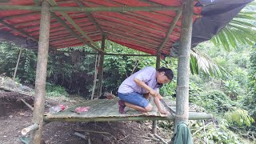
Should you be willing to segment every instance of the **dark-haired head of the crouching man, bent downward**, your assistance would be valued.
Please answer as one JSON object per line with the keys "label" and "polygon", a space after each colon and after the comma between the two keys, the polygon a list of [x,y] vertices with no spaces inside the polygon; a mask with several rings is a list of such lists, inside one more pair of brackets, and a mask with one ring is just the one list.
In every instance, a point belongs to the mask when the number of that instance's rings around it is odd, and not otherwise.
{"label": "dark-haired head of the crouching man, bent downward", "polygon": [[174,72],[170,69],[161,67],[157,71],[157,82],[160,84],[168,83],[174,78]]}

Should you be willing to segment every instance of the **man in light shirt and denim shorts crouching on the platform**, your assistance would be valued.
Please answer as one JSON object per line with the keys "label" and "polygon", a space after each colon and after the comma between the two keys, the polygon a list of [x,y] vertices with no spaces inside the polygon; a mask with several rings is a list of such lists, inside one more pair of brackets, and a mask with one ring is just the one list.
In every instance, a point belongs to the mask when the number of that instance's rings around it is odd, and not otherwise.
{"label": "man in light shirt and denim shorts crouching on the platform", "polygon": [[153,96],[158,111],[161,114],[169,114],[160,106],[159,99],[162,99],[162,96],[158,93],[158,89],[162,84],[171,82],[173,78],[173,71],[165,67],[155,70],[154,67],[148,66],[132,74],[118,88],[119,112],[125,114],[126,106],[143,113],[149,112],[153,106],[148,99]]}

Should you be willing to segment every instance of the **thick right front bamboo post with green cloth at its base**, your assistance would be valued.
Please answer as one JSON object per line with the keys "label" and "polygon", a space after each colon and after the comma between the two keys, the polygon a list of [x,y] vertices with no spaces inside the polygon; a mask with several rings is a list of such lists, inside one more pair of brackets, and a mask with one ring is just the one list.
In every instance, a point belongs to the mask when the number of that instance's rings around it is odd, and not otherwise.
{"label": "thick right front bamboo post with green cloth at its base", "polygon": [[193,0],[183,0],[182,30],[178,56],[177,99],[175,126],[189,117],[190,48],[192,35]]}

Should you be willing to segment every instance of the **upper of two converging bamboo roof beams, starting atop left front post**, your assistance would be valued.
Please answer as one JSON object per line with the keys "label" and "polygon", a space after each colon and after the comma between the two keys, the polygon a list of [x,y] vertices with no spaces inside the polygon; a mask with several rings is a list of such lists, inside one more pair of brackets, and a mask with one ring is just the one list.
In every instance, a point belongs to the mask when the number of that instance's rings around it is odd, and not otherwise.
{"label": "upper of two converging bamboo roof beams, starting atop left front post", "polygon": [[[46,0],[46,1],[47,1],[48,3],[50,3],[51,6],[58,6],[58,4],[57,4],[54,0]],[[62,14],[62,16],[65,17],[66,20],[67,20],[68,22],[70,22],[70,24],[71,24],[72,26],[74,26],[74,28],[75,28],[76,30],[78,30],[78,32],[79,32],[80,34],[82,34],[82,36],[84,36],[86,39],[88,39],[89,42],[90,42],[90,44],[91,44],[92,46],[94,46],[94,48],[95,48],[96,50],[104,52],[103,50],[101,50],[101,49],[94,43],[94,41],[91,40],[91,38],[81,29],[80,26],[77,25],[76,22],[74,22],[74,20],[73,20],[68,14],[66,14],[65,12],[61,12],[61,11],[60,11],[59,13]]]}

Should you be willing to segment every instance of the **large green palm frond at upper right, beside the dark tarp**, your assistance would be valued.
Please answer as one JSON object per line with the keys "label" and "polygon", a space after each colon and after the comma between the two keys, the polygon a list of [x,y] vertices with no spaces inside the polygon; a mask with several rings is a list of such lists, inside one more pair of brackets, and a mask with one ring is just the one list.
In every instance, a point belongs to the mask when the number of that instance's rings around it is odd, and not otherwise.
{"label": "large green palm frond at upper right, beside the dark tarp", "polygon": [[215,46],[223,46],[225,50],[237,48],[239,45],[254,45],[256,43],[256,13],[242,11],[225,26],[210,41]]}

